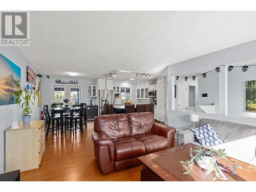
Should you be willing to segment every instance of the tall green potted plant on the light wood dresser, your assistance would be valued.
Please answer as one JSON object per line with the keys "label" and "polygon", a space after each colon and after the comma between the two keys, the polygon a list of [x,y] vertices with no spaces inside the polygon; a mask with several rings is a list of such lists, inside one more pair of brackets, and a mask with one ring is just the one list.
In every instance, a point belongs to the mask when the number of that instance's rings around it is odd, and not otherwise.
{"label": "tall green potted plant on the light wood dresser", "polygon": [[31,119],[31,105],[34,105],[35,97],[38,96],[38,89],[35,87],[23,87],[20,88],[19,82],[17,82],[18,90],[14,92],[16,96],[16,103],[22,108],[23,123],[29,123]]}

